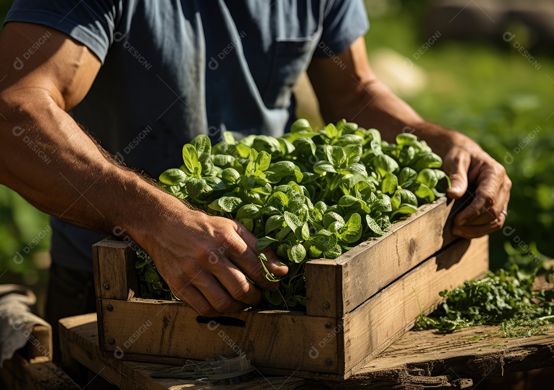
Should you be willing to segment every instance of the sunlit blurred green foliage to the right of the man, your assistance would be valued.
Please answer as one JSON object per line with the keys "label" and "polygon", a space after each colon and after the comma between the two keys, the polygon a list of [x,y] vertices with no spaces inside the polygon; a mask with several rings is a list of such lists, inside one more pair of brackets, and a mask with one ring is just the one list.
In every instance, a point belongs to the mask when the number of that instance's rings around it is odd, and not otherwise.
{"label": "sunlit blurred green foliage to the right of the man", "polygon": [[513,182],[510,229],[491,235],[491,267],[507,261],[504,242],[531,257],[537,248],[554,256],[554,60],[532,53],[536,69],[502,37],[480,43],[439,38],[416,60],[413,54],[430,38],[422,34],[422,18],[403,7],[372,19],[368,52],[392,48],[423,68],[427,88],[408,103],[426,119],[474,138],[506,168]]}

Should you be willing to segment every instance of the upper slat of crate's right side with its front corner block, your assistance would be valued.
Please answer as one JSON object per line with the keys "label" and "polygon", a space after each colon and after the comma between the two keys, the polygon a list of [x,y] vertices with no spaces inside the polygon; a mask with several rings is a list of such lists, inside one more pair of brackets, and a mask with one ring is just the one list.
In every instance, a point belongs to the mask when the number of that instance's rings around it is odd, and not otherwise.
{"label": "upper slat of crate's right side with its front corner block", "polygon": [[[357,245],[336,260],[308,261],[307,314],[340,318],[452,243],[456,237],[450,233],[453,218],[449,216],[454,204],[439,198],[392,224],[383,237]],[[335,261],[336,266],[329,261]],[[322,306],[324,301],[331,302],[329,309]]]}

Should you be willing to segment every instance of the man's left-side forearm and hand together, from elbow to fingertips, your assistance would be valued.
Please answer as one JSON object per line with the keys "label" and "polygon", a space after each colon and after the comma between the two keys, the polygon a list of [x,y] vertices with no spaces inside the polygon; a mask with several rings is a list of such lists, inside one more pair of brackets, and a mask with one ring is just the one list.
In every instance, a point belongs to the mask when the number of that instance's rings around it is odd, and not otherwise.
{"label": "man's left-side forearm and hand together, from elbow to fingertips", "polygon": [[[32,92],[0,94],[0,112],[11,112],[0,122],[1,183],[70,223],[125,234],[152,256],[173,293],[202,315],[258,304],[260,291],[244,274],[261,288],[277,287],[264,276],[257,239],[242,225],[188,209],[116,165],[47,94]],[[271,250],[264,254],[271,272],[286,274]]]}

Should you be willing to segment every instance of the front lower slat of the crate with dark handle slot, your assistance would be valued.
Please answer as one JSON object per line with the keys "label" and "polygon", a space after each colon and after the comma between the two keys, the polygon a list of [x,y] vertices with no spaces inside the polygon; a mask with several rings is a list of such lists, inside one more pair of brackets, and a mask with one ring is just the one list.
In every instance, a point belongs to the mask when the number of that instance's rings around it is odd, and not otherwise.
{"label": "front lower slat of the crate with dark handle slot", "polygon": [[[112,311],[106,311],[111,304]],[[204,360],[222,353],[246,353],[260,367],[343,373],[337,340],[342,335],[325,324],[336,319],[298,312],[243,311],[225,315],[245,326],[200,324],[198,314],[177,302],[102,299],[104,337],[114,343],[101,349],[126,359],[134,354]],[[342,329],[338,332],[341,333]],[[329,364],[330,358],[332,363]]]}

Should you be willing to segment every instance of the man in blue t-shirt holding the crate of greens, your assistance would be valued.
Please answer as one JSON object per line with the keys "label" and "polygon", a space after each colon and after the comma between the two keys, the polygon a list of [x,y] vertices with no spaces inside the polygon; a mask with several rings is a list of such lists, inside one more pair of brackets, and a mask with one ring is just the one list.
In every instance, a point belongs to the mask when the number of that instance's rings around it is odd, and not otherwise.
{"label": "man in blue t-shirt holding the crate of greens", "polygon": [[[257,304],[258,288],[275,289],[248,230],[188,209],[117,165],[76,121],[127,166],[157,177],[180,164],[180,146],[197,134],[282,134],[294,120],[291,88],[306,69],[326,121],[344,117],[388,140],[409,126],[443,157],[449,197],[475,186],[455,234],[501,228],[511,188],[504,168],[376,78],[367,29],[361,0],[17,0],[0,36],[0,182],[55,217],[50,320],[94,310],[57,300],[63,291],[93,302],[90,246],[106,234],[144,248],[173,293],[202,315]],[[264,253],[271,272],[286,274]]]}

